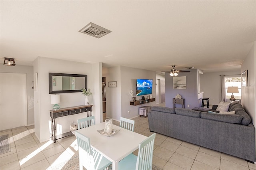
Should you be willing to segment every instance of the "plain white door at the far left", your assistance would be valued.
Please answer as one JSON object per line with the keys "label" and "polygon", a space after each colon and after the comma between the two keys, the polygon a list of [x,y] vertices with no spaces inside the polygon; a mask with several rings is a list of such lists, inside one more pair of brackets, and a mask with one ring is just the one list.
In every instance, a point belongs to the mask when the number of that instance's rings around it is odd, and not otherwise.
{"label": "plain white door at the far left", "polygon": [[0,73],[0,129],[27,126],[27,75]]}

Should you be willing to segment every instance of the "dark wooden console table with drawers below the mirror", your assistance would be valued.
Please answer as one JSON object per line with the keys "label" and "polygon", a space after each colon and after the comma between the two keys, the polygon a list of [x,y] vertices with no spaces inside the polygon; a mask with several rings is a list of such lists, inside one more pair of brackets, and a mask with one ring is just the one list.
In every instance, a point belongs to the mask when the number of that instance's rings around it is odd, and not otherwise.
{"label": "dark wooden console table with drawers below the mirror", "polygon": [[72,132],[66,132],[63,134],[60,134],[56,137],[56,124],[55,124],[55,119],[58,117],[63,117],[63,116],[69,116],[69,115],[75,115],[78,113],[83,113],[87,112],[87,117],[89,117],[89,112],[90,116],[92,116],[92,105],[81,105],[81,106],[74,106],[74,107],[66,107],[66,108],[61,108],[57,111],[50,110],[50,117],[52,119],[52,136],[51,139],[56,142],[57,139],[64,138],[66,136],[69,136],[72,134]]}

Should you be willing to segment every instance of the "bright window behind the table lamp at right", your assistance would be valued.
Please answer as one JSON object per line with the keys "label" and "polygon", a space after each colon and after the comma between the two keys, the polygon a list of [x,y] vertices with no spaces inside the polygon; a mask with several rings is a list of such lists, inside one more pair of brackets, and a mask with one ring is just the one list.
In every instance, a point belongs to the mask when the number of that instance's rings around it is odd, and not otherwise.
{"label": "bright window behind the table lamp at right", "polygon": [[[237,76],[237,75],[234,75]],[[234,93],[235,99],[241,100],[241,77],[225,76],[226,97],[230,99],[232,93],[227,93],[228,87],[237,86],[239,93]]]}

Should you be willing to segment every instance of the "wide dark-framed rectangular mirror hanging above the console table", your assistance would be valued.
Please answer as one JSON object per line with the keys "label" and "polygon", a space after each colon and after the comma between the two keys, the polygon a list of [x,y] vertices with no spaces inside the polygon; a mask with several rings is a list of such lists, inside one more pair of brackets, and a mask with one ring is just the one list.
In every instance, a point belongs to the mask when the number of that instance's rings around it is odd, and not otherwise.
{"label": "wide dark-framed rectangular mirror hanging above the console table", "polygon": [[87,75],[49,73],[49,94],[76,93],[87,89]]}

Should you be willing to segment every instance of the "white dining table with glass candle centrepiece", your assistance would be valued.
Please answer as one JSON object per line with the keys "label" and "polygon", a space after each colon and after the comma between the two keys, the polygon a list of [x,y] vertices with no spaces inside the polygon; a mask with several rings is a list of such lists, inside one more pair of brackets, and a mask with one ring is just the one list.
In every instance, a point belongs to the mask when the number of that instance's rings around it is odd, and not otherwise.
{"label": "white dining table with glass candle centrepiece", "polygon": [[78,132],[90,138],[92,148],[112,162],[112,169],[118,170],[118,162],[138,149],[147,136],[113,125],[118,130],[113,136],[100,134],[97,130],[105,128],[105,122],[79,129]]}

